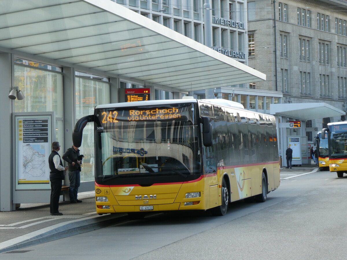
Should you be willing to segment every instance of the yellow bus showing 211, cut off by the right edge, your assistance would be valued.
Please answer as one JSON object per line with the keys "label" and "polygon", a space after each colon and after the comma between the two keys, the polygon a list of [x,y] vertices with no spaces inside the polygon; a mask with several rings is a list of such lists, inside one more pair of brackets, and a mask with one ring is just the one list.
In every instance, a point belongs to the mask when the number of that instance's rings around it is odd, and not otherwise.
{"label": "yellow bus showing 211, cut off by the right edge", "polygon": [[343,177],[347,173],[347,122],[328,123],[328,128],[322,129],[321,137],[328,139],[330,172]]}

